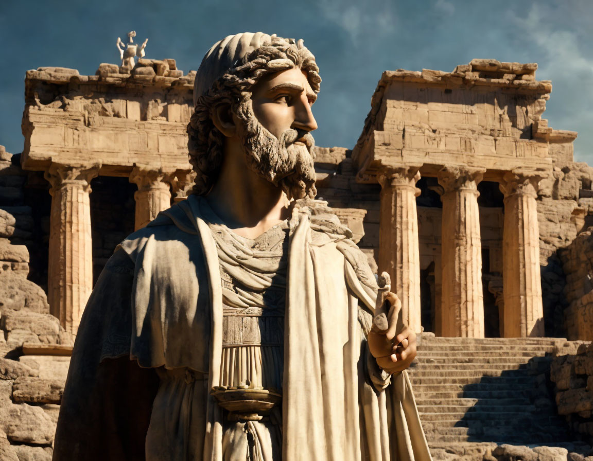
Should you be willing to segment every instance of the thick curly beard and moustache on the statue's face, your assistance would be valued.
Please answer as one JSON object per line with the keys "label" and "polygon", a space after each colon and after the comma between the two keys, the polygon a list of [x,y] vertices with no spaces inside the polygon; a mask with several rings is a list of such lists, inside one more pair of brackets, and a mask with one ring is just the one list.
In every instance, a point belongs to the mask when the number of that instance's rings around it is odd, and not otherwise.
{"label": "thick curly beard and moustache on the statue's face", "polygon": [[[310,133],[286,130],[278,139],[257,120],[251,101],[243,101],[237,111],[243,121],[243,146],[250,168],[274,185],[282,187],[289,200],[313,199],[315,189],[315,141]],[[297,139],[303,145],[295,144]]]}

